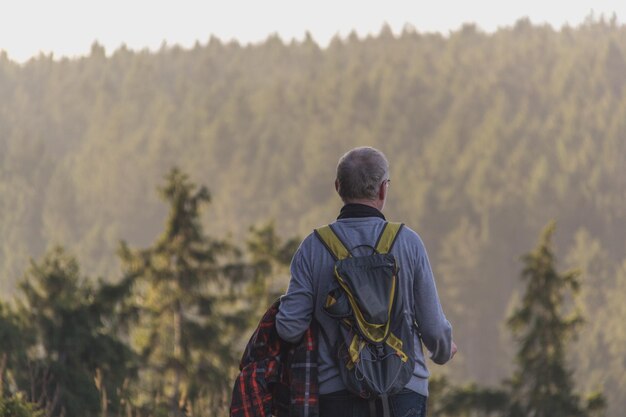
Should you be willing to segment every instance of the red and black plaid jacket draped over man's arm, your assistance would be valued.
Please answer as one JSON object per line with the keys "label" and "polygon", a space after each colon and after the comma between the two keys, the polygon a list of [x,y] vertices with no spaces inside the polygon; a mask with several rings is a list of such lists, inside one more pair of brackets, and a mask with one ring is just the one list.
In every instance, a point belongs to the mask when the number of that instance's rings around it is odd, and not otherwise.
{"label": "red and black plaid jacket draped over man's arm", "polygon": [[252,334],[233,387],[231,417],[317,417],[317,328],[297,345],[276,332],[276,301]]}

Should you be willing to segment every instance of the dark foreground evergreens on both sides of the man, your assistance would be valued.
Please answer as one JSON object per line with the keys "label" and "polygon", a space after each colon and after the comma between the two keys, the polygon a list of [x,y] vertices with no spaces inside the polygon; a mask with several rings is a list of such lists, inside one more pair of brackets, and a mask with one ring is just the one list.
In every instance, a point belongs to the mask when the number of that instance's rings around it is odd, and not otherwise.
{"label": "dark foreground evergreens on both sides of the man", "polygon": [[[120,242],[117,282],[87,279],[55,247],[31,262],[15,303],[0,302],[0,417],[228,415],[242,342],[298,241],[283,243],[266,225],[243,252],[203,231],[206,187],[173,169],[159,192],[169,208],[164,230],[147,248]],[[581,317],[567,316],[564,301],[579,282],[557,271],[553,232],[554,223],[523,258],[527,289],[509,317],[519,347],[507,388],[436,378],[433,415],[602,415],[602,393],[581,399],[567,365]]]}

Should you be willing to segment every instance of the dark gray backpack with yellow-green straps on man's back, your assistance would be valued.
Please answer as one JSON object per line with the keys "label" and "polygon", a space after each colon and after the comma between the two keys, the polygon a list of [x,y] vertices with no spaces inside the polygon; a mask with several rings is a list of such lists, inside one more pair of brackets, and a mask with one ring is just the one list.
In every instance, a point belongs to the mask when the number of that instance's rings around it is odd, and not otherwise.
{"label": "dark gray backpack with yellow-green straps on man's back", "polygon": [[[385,223],[372,254],[353,256],[327,225],[315,235],[335,259],[324,311],[339,323],[334,354],[347,389],[361,398],[381,398],[385,417],[388,397],[411,379],[414,359],[413,321],[404,314],[398,263],[390,254],[402,223]],[[369,245],[360,245],[369,246]]]}

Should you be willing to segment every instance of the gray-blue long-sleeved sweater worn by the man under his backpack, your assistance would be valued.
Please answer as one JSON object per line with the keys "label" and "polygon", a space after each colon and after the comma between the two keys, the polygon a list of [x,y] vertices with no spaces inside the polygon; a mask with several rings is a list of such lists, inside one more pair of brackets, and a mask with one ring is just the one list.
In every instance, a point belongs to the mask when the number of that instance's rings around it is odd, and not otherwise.
{"label": "gray-blue long-sleeved sweater worn by the man under his backpack", "polygon": [[[383,225],[384,220],[378,217],[348,218],[333,223],[341,240],[356,256],[359,255],[357,246],[375,246]],[[441,308],[424,244],[417,233],[405,226],[391,253],[400,266],[398,279],[405,305],[408,308],[413,306],[413,311],[406,313],[413,314],[419,324],[421,340],[430,352],[430,358],[437,364],[443,364],[450,359],[452,327]],[[276,316],[278,334],[289,342],[297,342],[302,337],[313,317],[320,323],[320,332],[323,332],[318,338],[320,394],[345,389],[331,355],[338,337],[337,324],[322,308],[328,287],[334,279],[333,266],[332,256],[319,239],[313,233],[307,236],[291,262],[291,280]],[[427,396],[428,376],[422,343],[416,334],[415,370],[407,388]]]}

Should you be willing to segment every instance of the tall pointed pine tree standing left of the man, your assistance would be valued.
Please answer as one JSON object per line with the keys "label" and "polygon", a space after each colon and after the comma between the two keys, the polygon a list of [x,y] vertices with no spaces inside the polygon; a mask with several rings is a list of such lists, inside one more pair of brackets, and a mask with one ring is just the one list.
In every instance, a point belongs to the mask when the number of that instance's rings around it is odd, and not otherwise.
{"label": "tall pointed pine tree standing left of the man", "polygon": [[215,414],[236,364],[231,342],[251,309],[243,284],[255,274],[236,248],[204,234],[206,187],[174,168],[159,191],[169,205],[164,232],[146,249],[122,242],[120,250],[135,279],[132,337],[145,361],[137,406],[151,415]]}

